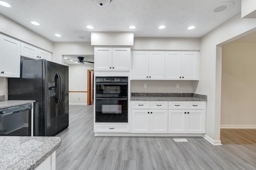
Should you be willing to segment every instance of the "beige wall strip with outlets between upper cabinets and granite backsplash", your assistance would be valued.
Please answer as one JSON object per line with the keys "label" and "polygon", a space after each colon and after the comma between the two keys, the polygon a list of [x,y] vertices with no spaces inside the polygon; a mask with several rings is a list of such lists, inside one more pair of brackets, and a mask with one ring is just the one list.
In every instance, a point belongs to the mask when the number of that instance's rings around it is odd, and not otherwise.
{"label": "beige wall strip with outlets between upper cabinets and granite backsplash", "polygon": [[[144,84],[147,85],[144,88]],[[179,88],[176,88],[176,85]],[[195,93],[198,81],[131,80],[132,93]]]}

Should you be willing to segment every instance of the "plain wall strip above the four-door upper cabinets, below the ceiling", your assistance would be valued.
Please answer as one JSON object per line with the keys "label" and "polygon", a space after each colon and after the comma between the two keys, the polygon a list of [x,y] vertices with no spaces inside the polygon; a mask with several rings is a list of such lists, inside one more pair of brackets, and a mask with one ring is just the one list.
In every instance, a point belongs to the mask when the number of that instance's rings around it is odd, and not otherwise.
{"label": "plain wall strip above the four-door upper cabinets, below the ceiling", "polygon": [[200,50],[200,38],[134,38],[132,50]]}

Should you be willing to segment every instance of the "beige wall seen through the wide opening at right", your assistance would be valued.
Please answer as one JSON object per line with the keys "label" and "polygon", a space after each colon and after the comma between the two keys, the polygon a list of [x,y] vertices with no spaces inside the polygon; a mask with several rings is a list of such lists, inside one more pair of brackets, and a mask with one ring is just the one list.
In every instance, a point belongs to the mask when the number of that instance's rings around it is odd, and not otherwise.
{"label": "beige wall seen through the wide opening at right", "polygon": [[256,43],[222,46],[221,127],[256,127]]}

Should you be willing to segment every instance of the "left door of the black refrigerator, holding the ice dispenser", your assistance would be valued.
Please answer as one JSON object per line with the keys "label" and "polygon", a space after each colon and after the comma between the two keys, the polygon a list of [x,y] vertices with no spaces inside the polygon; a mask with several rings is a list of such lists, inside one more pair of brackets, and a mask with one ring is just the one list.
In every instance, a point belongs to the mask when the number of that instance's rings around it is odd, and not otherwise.
{"label": "left door of the black refrigerator, holding the ice dispenser", "polygon": [[[55,102],[55,95],[51,95],[48,91],[48,84],[55,83],[55,75],[58,73],[58,64],[43,61],[45,64],[45,104],[44,104],[44,134],[45,136],[53,136],[58,132],[58,110]],[[53,87],[56,88],[56,87]]]}

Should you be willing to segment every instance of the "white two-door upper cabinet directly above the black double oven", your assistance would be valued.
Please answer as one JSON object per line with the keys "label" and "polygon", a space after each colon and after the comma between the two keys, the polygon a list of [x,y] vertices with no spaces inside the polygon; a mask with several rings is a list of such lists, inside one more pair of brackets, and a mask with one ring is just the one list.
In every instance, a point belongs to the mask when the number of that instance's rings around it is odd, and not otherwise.
{"label": "white two-door upper cabinet directly above the black double oven", "polygon": [[130,71],[129,47],[94,47],[95,71]]}

